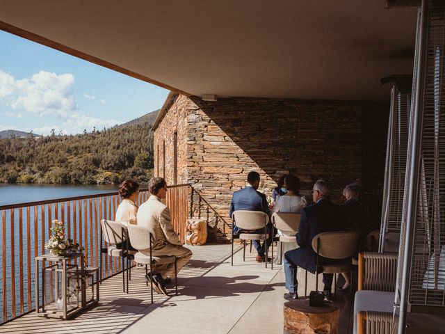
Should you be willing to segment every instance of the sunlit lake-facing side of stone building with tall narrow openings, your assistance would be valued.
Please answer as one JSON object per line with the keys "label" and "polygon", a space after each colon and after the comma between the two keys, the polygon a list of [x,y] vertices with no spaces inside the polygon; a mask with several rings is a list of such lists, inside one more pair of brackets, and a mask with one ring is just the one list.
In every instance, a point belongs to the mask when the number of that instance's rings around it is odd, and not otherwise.
{"label": "sunlit lake-facing side of stone building with tall narrow openings", "polygon": [[[187,183],[187,105],[191,101],[178,95],[154,132],[154,175],[168,184]],[[175,132],[177,133],[177,180],[175,182]],[[164,166],[165,145],[165,166]]]}

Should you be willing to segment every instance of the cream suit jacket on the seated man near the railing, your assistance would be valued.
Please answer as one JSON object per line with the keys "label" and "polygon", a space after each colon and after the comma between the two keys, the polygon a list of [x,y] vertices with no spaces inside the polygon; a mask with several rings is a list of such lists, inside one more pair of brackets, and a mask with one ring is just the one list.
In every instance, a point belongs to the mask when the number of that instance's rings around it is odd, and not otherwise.
{"label": "cream suit jacket on the seated man near the railing", "polygon": [[166,244],[182,245],[173,230],[170,209],[159,197],[150,196],[138,209],[138,225],[148,228],[154,235],[153,249],[158,250]]}

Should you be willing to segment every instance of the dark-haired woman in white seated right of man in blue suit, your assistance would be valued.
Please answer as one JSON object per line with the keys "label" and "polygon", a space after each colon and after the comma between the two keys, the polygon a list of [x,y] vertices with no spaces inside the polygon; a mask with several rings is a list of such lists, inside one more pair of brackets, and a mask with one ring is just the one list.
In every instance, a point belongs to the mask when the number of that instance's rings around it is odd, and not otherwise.
{"label": "dark-haired woman in white seated right of man in blue suit", "polygon": [[[303,207],[307,205],[307,200],[305,197],[299,195],[300,179],[292,174],[287,175],[284,179],[284,188],[286,188],[287,192],[275,200],[272,212],[301,212]],[[285,233],[280,230],[278,230],[278,234],[285,235]],[[297,248],[297,241],[283,243],[282,247],[282,253],[284,254],[288,250]],[[281,264],[281,262],[282,259],[280,258],[280,253],[278,253],[274,259],[274,263]]]}

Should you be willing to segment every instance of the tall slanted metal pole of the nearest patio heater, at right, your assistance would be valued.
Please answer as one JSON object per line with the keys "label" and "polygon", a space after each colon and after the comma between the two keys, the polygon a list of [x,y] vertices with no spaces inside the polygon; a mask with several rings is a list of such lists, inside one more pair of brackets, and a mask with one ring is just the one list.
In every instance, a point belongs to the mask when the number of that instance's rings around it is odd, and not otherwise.
{"label": "tall slanted metal pole of the nearest patio heater, at right", "polygon": [[[426,74],[426,56],[428,45],[428,0],[422,0],[419,24],[419,53],[416,66],[416,90],[414,96],[414,112],[412,115],[411,129],[412,143],[411,143],[411,159],[410,166],[407,166],[408,185],[405,191],[407,192],[407,209],[406,209],[406,228],[405,236],[405,251],[403,252],[402,265],[402,285],[401,301],[400,301],[400,315],[398,319],[398,333],[405,333],[406,316],[408,310],[408,298],[410,294],[410,273],[412,262],[412,244],[414,238],[414,228],[416,222],[416,202],[417,190],[419,181],[419,161],[421,150],[421,136],[422,136],[422,121],[423,121],[423,91],[425,86]],[[409,168],[409,169],[408,169]],[[402,255],[402,254],[401,254]]]}

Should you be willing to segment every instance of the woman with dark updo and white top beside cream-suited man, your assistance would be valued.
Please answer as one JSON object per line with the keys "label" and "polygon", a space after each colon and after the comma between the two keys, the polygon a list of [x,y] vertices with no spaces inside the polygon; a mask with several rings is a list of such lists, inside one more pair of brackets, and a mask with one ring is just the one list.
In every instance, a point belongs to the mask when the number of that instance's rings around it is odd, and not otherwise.
{"label": "woman with dark updo and white top beside cream-suited man", "polygon": [[124,180],[119,186],[119,195],[122,198],[122,202],[116,211],[115,221],[118,223],[135,224],[136,214],[138,213],[138,201],[139,184],[133,180]]}

